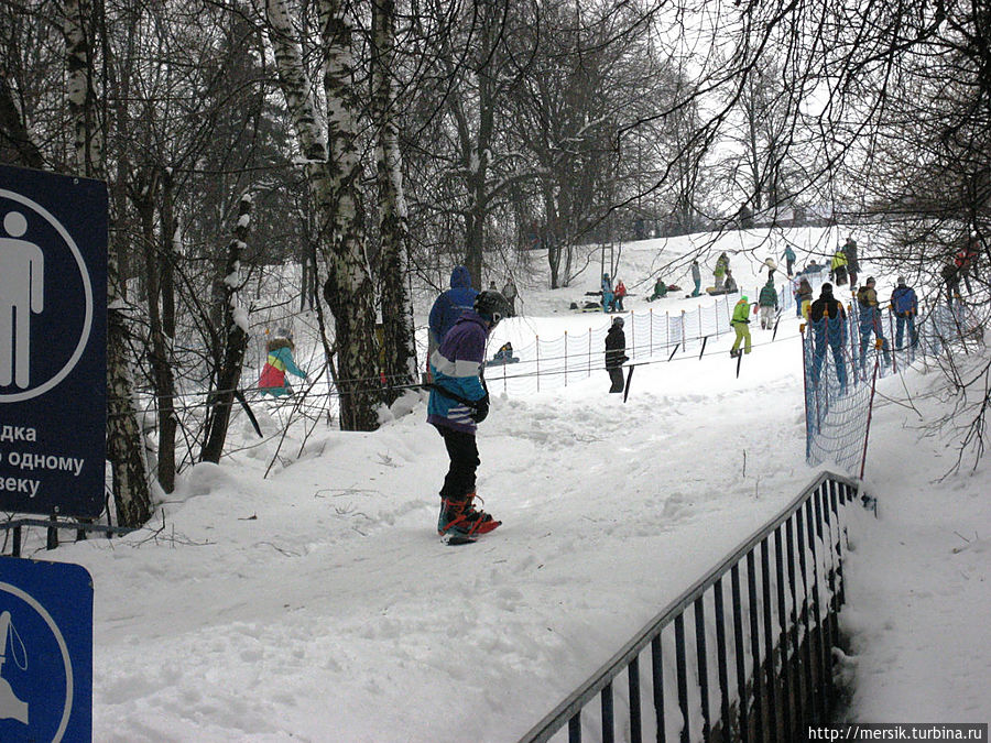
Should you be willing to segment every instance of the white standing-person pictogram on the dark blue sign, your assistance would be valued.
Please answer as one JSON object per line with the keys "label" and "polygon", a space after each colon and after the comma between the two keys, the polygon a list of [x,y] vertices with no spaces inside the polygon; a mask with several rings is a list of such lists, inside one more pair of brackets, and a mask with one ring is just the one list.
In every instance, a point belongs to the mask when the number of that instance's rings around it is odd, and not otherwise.
{"label": "white standing-person pictogram on the dark blue sign", "polygon": [[41,248],[21,240],[28,220],[20,211],[3,217],[0,237],[0,386],[31,384],[31,313],[45,306],[45,260]]}

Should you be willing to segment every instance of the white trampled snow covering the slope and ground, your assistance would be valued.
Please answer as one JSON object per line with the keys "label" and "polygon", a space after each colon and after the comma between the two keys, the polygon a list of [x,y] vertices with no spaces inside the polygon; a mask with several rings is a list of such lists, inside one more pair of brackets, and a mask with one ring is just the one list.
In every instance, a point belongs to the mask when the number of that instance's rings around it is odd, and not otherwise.
{"label": "white trampled snow covering the slope and ground", "polygon": [[[726,239],[745,249],[762,236]],[[617,274],[640,294],[628,309],[643,310],[652,269],[688,249],[628,245]],[[737,256],[744,289],[782,249]],[[598,271],[551,292],[535,263],[518,281],[523,316],[489,354],[605,328],[567,310]],[[683,262],[664,275],[690,288],[686,274]],[[653,306],[700,302],[683,296]],[[792,313],[770,340],[754,330],[739,379],[729,335],[700,360],[644,365],[625,404],[598,368],[494,394],[478,484],[504,524],[469,547],[435,532],[447,460],[422,400],[373,434],[292,428],[268,478],[279,439],[247,446],[239,418],[246,448],[185,472],[149,529],[34,555],[92,573],[94,740],[516,740],[814,478]],[[865,482],[880,518],[854,515],[842,615],[860,721],[991,720],[991,470],[940,479],[955,458],[926,429],[940,384],[911,370],[879,386]],[[287,408],[264,405],[275,431]]]}

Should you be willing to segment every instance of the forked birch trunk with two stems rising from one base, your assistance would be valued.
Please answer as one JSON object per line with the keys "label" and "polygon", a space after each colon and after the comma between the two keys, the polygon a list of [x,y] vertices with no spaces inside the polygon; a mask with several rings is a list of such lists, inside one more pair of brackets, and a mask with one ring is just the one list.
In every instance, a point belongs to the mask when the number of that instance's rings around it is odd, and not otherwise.
{"label": "forked birch trunk with two stems rising from one base", "polygon": [[320,2],[323,87],[327,101],[325,132],[287,3],[268,0],[264,12],[280,86],[305,160],[319,220],[319,244],[328,271],[324,297],[335,319],[340,426],[345,430],[373,430],[378,427],[375,407],[381,389],[375,374],[373,287],[356,198],[359,101],[353,81],[351,29],[339,3]]}

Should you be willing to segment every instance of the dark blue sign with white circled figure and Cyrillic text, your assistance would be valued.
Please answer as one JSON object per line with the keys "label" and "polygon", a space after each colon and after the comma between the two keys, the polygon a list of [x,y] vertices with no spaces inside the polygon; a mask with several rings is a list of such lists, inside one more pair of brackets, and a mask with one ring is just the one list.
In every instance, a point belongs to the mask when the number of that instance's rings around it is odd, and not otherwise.
{"label": "dark blue sign with white circled figure and Cyrillic text", "polygon": [[0,166],[0,510],[102,512],[106,348],[106,184]]}

